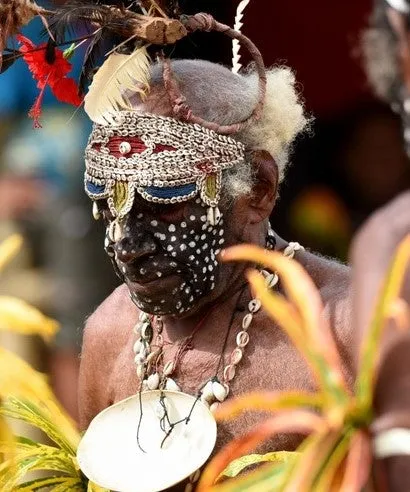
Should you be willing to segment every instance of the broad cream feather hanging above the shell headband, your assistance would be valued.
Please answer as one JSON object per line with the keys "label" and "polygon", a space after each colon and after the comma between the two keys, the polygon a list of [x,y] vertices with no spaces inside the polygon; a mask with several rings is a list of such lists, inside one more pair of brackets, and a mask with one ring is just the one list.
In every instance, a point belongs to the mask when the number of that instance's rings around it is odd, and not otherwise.
{"label": "broad cream feather hanging above the shell headband", "polygon": [[95,123],[112,122],[110,114],[129,109],[127,93],[144,96],[149,88],[150,59],[145,47],[131,55],[112,53],[94,75],[84,109]]}

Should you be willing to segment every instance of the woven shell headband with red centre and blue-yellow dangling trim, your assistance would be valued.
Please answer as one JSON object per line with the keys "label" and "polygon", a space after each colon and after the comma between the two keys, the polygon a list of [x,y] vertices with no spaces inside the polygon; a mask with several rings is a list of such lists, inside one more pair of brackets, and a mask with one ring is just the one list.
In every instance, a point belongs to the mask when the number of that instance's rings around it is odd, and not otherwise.
{"label": "woven shell headband with red centre and blue-yellow dangling trim", "polygon": [[155,203],[178,203],[197,195],[218,223],[222,172],[245,159],[245,146],[198,124],[121,111],[111,124],[95,124],[85,152],[85,190],[107,199],[115,218],[131,210],[135,192]]}

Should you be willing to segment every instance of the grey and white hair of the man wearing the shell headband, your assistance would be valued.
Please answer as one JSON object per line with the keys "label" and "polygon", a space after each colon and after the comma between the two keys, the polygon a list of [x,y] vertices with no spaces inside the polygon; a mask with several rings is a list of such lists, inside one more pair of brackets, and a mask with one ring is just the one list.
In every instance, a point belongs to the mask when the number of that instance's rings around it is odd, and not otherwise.
{"label": "grey and white hair of the man wearing the shell headband", "polygon": [[[253,71],[238,75],[222,65],[202,60],[175,60],[172,70],[192,111],[221,125],[249,117],[258,100],[258,76]],[[289,154],[297,136],[309,127],[311,118],[297,90],[295,75],[288,67],[267,71],[267,92],[261,118],[235,138],[248,150],[266,150],[274,158],[279,180],[285,176]],[[153,85],[162,85],[162,66],[152,69]],[[224,190],[231,198],[249,194],[254,182],[250,162],[225,171]]]}

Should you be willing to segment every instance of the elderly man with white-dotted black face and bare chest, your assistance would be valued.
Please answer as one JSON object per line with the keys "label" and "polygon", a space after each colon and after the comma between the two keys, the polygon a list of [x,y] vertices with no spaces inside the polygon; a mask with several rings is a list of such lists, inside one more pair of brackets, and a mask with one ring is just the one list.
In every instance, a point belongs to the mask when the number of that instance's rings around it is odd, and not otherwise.
{"label": "elderly man with white-dotted black face and bare chest", "polygon": [[[202,61],[175,61],[172,70],[189,106],[208,121],[227,125],[252,111],[258,95],[253,74],[238,76]],[[187,148],[195,160],[195,152],[206,154],[207,149],[193,145],[195,139],[203,139],[200,126],[172,118],[161,72],[161,64],[153,67],[148,97],[142,102],[135,96],[133,111],[123,112],[123,119],[119,116],[119,126],[97,125],[87,148],[87,192],[95,200],[95,213],[104,217],[106,249],[125,285],[103,302],[85,328],[79,396],[83,428],[99,412],[141,388],[201,392],[202,403],[211,409],[246,391],[313,388],[291,342],[252,301],[244,279],[246,265],[219,261],[221,249],[234,244],[254,243],[295,255],[320,290],[324,316],[331,320],[346,373],[350,372],[349,269],[289,245],[269,224],[292,143],[308,125],[292,72],[269,71],[260,120],[237,140],[222,137],[233,148],[243,144],[246,159],[221,171],[220,189],[214,184],[220,194],[218,207],[210,207],[202,193],[178,181],[179,176],[187,178],[186,169],[172,152]],[[217,153],[222,140],[216,132],[205,134],[207,148],[212,142],[212,152]],[[162,166],[164,180],[170,173],[173,191],[182,200],[156,203],[155,197],[169,188],[141,186],[129,202],[129,212],[119,219],[115,200],[98,196],[105,188],[95,170],[104,160],[121,167],[121,156],[143,153],[149,145],[154,151],[147,157],[147,168],[155,172],[153,166]],[[226,161],[226,154],[220,155],[221,162]],[[171,156],[169,167],[165,156]],[[269,286],[281,288],[274,274],[266,276]],[[141,311],[151,316],[141,317]],[[150,364],[158,351],[156,364]],[[218,383],[213,394],[208,391],[210,381]],[[217,447],[260,418],[246,416],[221,425]],[[270,450],[293,449],[297,442],[278,437]]]}

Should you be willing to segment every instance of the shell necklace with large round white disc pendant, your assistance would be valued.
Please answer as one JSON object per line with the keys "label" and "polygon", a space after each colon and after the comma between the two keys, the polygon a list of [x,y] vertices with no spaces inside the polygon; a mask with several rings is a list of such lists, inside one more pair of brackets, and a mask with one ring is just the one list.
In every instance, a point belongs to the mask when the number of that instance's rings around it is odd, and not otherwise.
{"label": "shell necklace with large round white disc pendant", "polygon": [[[292,258],[301,249],[298,243],[290,243],[283,254]],[[262,274],[268,288],[279,281],[276,273],[262,270]],[[140,391],[91,422],[77,452],[83,473],[98,485],[119,492],[157,492],[187,478],[185,491],[192,491],[199,470],[215,447],[217,428],[212,411],[228,397],[249,344],[249,329],[260,309],[259,299],[249,302],[221,379],[214,376],[203,381],[196,396],[182,392],[172,378],[175,359],[162,364],[161,319],[141,313],[134,328]],[[222,352],[224,349],[225,344]]]}

